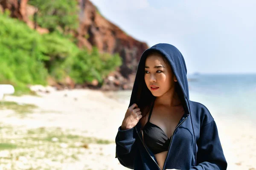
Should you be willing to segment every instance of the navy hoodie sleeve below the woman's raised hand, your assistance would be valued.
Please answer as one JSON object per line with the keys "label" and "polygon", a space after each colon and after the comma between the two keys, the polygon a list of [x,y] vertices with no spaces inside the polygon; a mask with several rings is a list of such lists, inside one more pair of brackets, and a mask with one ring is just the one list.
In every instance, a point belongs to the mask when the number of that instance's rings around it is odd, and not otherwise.
{"label": "navy hoodie sleeve below the woman's raised hand", "polygon": [[128,130],[118,128],[116,135],[116,158],[120,164],[130,169],[134,169],[134,153],[136,150],[134,127]]}

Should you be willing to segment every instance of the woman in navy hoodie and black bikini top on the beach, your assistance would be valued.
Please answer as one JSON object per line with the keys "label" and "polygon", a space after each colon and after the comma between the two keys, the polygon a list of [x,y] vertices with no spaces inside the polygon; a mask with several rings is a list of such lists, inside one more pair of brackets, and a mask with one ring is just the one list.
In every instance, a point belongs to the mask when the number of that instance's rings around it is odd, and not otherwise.
{"label": "woman in navy hoodie and black bikini top on the beach", "polygon": [[226,170],[208,109],[189,100],[186,64],[170,44],[140,58],[131,100],[116,135],[116,158],[134,170]]}

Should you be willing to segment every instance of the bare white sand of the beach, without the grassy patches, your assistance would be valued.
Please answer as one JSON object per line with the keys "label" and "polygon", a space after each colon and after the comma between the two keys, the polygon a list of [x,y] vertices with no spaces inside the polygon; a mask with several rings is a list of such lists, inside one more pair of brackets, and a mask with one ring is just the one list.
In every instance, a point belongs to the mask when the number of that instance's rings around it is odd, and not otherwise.
{"label": "bare white sand of the beach, without the grassy patches", "polygon": [[[67,96],[65,96],[67,94]],[[54,91],[35,96],[6,96],[6,101],[35,104],[38,109],[25,118],[12,111],[1,111],[0,122],[26,129],[61,127],[82,136],[114,142],[128,105],[105,96],[101,91]],[[228,170],[256,170],[256,127],[252,122],[216,118]],[[55,165],[52,165],[55,166]],[[89,144],[76,163],[58,165],[61,169],[127,169],[115,158],[115,144]],[[54,169],[54,168],[52,168]]]}

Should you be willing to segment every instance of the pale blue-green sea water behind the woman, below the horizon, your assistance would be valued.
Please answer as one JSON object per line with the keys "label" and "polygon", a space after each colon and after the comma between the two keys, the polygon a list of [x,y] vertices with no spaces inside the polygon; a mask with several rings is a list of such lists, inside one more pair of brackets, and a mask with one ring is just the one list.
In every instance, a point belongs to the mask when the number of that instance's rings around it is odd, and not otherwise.
{"label": "pale blue-green sea water behind the woman, below the horizon", "polygon": [[[187,78],[189,99],[205,105],[212,115],[256,120],[256,74],[193,74]],[[131,90],[117,91],[116,97],[129,104]]]}

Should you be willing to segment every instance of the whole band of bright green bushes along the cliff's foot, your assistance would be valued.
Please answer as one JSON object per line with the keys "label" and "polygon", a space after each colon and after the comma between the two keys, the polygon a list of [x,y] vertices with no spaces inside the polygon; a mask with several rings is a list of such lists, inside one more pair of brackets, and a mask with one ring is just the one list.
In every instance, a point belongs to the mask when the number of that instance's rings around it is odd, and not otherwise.
{"label": "whole band of bright green bushes along the cliff's foot", "polygon": [[8,14],[0,14],[0,83],[14,85],[18,95],[29,93],[28,84],[46,85],[49,75],[58,81],[70,76],[76,83],[102,83],[122,64],[118,54],[79,49],[68,35],[41,35]]}

